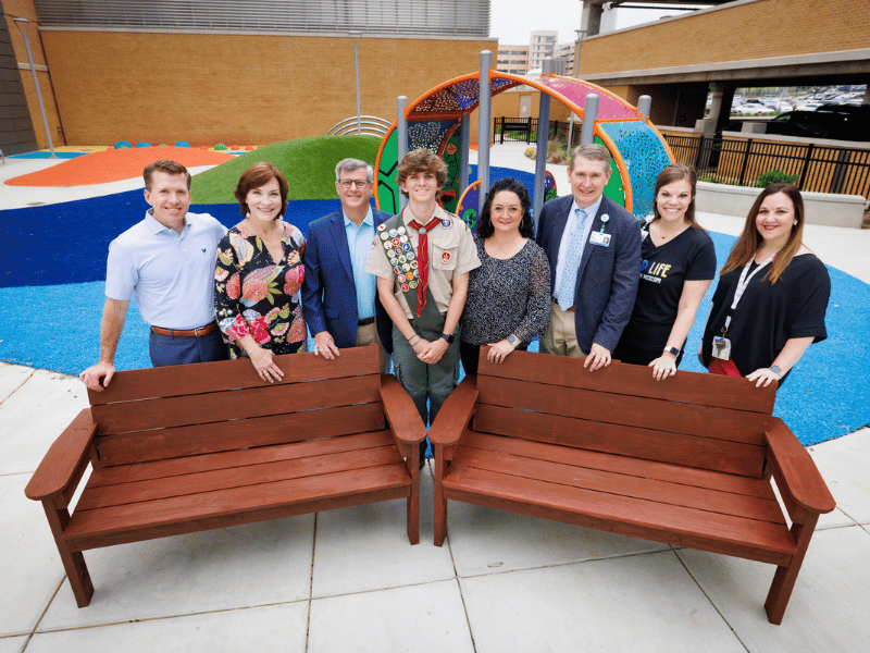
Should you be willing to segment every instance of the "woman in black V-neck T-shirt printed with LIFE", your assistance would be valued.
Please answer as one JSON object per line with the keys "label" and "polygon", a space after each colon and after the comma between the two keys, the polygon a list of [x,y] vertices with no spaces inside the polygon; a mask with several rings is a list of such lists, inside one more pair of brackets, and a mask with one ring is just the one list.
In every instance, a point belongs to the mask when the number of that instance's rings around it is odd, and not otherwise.
{"label": "woman in black V-neck T-shirt printed with LIFE", "polygon": [[695,222],[697,174],[668,165],[656,177],[652,217],[641,243],[641,282],[634,311],[613,358],[652,368],[652,377],[676,373],[700,300],[716,276],[716,248]]}

